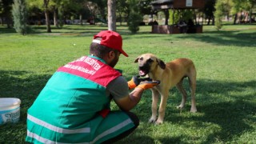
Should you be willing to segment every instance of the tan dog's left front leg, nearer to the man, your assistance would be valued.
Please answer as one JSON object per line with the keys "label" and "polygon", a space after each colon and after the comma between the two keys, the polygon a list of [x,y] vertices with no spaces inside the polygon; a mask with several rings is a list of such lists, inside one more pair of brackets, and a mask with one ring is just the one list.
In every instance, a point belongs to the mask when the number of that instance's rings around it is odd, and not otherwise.
{"label": "tan dog's left front leg, nearer to the man", "polygon": [[155,89],[150,89],[150,90],[152,91],[152,106],[151,106],[152,115],[149,122],[153,123],[157,120],[157,116],[158,116],[157,114],[158,114],[159,93],[158,93],[158,90],[155,90]]}

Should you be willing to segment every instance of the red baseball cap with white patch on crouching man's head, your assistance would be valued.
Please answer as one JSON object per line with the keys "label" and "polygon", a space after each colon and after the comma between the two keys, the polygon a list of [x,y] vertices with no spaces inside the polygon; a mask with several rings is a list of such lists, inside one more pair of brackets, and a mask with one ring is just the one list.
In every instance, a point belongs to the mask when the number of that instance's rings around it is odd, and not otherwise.
{"label": "red baseball cap with white patch on crouching man's head", "polygon": [[[95,38],[102,38],[102,40],[98,40]],[[103,30],[98,34],[94,35],[93,42],[98,43],[103,46],[110,47],[111,49],[118,50],[120,53],[124,54],[128,57],[128,54],[124,50],[122,50],[122,37],[120,34],[111,31],[111,30]]]}

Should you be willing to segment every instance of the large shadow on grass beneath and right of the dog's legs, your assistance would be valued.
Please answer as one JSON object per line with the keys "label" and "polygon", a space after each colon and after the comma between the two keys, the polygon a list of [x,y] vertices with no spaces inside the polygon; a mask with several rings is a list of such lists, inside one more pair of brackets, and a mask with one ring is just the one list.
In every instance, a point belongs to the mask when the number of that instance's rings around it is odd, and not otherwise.
{"label": "large shadow on grass beneath and right of the dog's legs", "polygon": [[[189,129],[214,129],[209,133],[205,143],[232,142],[242,134],[254,131],[252,124],[256,122],[256,80],[250,82],[218,82],[207,79],[198,80],[197,85],[197,108],[198,114],[191,114],[190,97],[186,102],[185,110],[177,110],[181,102],[181,94],[174,88],[170,90],[168,104],[166,106],[165,122],[172,125],[179,125]],[[143,103],[137,113],[142,117],[142,121],[150,118],[150,93],[145,103]],[[150,103],[150,104],[148,104]],[[141,110],[144,107],[144,110]],[[139,112],[138,112],[139,111]],[[146,112],[149,112],[146,114]],[[167,126],[167,125],[166,125]],[[170,131],[170,133],[172,133]],[[200,134],[198,134],[200,135]],[[179,143],[190,138],[189,135],[182,134],[180,138],[162,138],[162,143]],[[197,136],[195,136],[197,138]],[[200,138],[198,138],[200,139]],[[175,141],[174,141],[175,140]],[[184,142],[184,141],[182,141]]]}

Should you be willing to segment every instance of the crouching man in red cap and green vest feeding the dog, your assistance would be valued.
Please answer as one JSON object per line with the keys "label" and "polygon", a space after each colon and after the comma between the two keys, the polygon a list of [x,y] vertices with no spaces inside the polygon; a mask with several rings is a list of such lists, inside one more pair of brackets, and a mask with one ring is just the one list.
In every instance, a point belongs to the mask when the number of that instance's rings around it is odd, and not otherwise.
{"label": "crouching man in red cap and green vest feeding the dog", "polygon": [[[28,110],[26,142],[110,143],[136,129],[129,110],[159,82],[133,77],[127,83],[114,70],[120,54],[128,57],[122,37],[104,30],[94,36],[90,55],[60,67]],[[121,110],[110,111],[111,99]]]}

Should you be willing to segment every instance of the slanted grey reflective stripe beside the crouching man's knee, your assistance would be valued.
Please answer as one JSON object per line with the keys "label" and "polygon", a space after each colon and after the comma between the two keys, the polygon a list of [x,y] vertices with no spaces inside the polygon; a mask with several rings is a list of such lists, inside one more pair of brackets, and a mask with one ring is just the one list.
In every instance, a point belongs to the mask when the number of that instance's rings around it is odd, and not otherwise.
{"label": "slanted grey reflective stripe beside the crouching man's knee", "polygon": [[122,127],[129,125],[132,123],[130,118],[126,119],[126,121],[119,123],[117,126],[114,126],[110,128],[109,130],[104,131],[102,134],[99,134],[96,138],[94,138],[94,141],[92,143],[95,143],[98,141],[98,139],[105,137],[107,134],[114,133],[117,130],[122,129]]}

